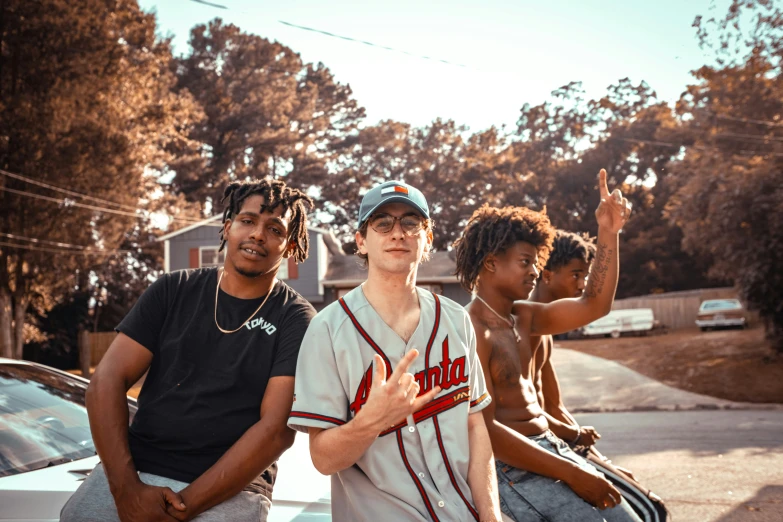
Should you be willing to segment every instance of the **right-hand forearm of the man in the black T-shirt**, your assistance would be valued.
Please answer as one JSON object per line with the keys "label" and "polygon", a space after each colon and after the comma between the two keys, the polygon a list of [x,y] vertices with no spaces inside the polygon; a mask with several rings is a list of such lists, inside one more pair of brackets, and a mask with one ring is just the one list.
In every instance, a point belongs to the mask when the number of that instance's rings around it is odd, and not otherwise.
{"label": "right-hand forearm of the man in the black T-shirt", "polygon": [[[295,433],[263,418],[180,494],[190,519],[242,491],[293,444]],[[172,512],[172,511],[170,511]],[[173,512],[172,512],[173,513]]]}

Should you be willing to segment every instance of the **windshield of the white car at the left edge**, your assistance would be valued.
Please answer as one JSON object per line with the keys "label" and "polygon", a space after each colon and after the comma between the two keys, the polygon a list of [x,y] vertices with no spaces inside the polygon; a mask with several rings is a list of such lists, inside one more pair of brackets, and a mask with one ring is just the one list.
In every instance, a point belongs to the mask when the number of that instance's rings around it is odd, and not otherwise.
{"label": "windshield of the white car at the left edge", "polygon": [[0,364],[0,477],[95,455],[85,392],[44,368]]}

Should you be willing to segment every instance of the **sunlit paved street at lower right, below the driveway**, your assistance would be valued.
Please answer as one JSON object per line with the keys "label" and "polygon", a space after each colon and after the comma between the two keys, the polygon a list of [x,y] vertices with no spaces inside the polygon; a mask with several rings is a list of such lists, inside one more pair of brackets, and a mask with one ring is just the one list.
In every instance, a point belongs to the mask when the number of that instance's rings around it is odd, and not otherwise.
{"label": "sunlit paved street at lower right, below the driveway", "polygon": [[783,411],[575,415],[676,522],[783,521]]}

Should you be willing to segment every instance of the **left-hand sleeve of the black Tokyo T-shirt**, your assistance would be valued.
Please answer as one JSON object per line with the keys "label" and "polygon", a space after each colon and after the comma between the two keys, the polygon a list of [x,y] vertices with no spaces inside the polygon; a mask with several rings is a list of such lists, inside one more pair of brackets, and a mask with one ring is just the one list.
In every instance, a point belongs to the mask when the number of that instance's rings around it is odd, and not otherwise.
{"label": "left-hand sleeve of the black Tokyo T-shirt", "polygon": [[172,274],[164,274],[147,288],[128,315],[117,325],[123,333],[151,351],[158,352],[158,339],[168,310],[168,293]]}

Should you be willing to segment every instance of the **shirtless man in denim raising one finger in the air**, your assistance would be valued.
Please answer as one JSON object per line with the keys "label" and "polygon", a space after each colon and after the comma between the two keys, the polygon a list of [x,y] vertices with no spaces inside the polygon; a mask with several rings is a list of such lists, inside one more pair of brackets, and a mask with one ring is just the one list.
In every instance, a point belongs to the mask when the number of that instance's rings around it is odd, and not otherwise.
{"label": "shirtless man in denim raising one finger in the air", "polygon": [[[618,274],[618,234],[630,214],[619,190],[599,176],[598,250],[587,292],[548,304],[524,301],[546,264],[555,231],[522,207],[478,209],[457,240],[457,276],[468,305],[492,402],[483,410],[501,508],[516,521],[635,521],[620,493],[555,436],[533,384],[531,336],[572,330],[606,315]],[[598,509],[596,509],[598,508]],[[599,511],[602,510],[602,511]]]}

